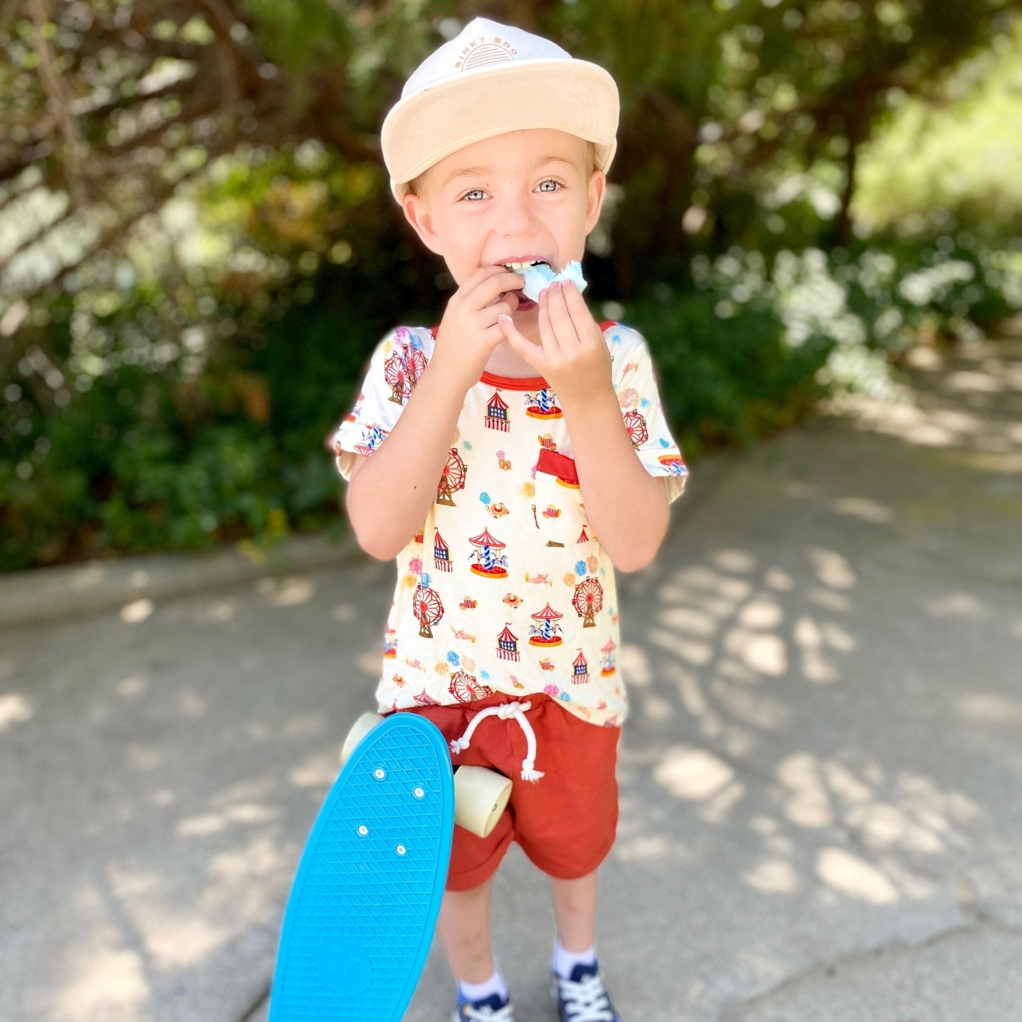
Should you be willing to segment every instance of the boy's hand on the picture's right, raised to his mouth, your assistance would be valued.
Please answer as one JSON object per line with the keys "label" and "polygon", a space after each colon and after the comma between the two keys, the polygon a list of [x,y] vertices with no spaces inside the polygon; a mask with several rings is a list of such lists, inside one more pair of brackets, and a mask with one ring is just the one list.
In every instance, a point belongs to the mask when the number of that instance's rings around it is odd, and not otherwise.
{"label": "boy's hand on the picture's right, raised to his mouth", "polygon": [[568,404],[613,386],[610,352],[599,324],[570,281],[540,292],[540,344],[515,329],[510,316],[498,321],[508,343]]}

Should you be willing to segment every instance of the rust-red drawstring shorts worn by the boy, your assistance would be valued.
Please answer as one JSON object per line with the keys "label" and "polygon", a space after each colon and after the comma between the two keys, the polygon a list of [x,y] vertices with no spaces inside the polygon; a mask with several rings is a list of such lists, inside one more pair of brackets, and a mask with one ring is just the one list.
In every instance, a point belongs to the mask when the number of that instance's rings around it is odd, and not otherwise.
{"label": "rust-red drawstring shorts worn by the boy", "polygon": [[617,740],[620,728],[587,724],[541,693],[499,692],[457,706],[417,706],[450,744],[489,706],[528,703],[524,717],[536,734],[538,781],[521,779],[527,739],[516,717],[480,721],[468,748],[452,753],[454,765],[489,766],[511,778],[511,798],[486,838],[455,827],[448,890],[469,890],[489,880],[512,841],[544,873],[573,880],[592,873],[607,856],[617,831]]}

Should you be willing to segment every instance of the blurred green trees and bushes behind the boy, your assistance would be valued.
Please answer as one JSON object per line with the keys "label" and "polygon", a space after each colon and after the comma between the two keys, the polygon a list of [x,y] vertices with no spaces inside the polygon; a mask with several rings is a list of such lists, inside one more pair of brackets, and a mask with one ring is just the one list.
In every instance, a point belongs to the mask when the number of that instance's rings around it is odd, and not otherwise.
{"label": "blurred green trees and bushes behind the boy", "polygon": [[380,124],[476,14],[618,82],[587,298],[690,463],[1022,309],[1009,0],[0,0],[0,569],[341,527],[324,439],[452,288]]}

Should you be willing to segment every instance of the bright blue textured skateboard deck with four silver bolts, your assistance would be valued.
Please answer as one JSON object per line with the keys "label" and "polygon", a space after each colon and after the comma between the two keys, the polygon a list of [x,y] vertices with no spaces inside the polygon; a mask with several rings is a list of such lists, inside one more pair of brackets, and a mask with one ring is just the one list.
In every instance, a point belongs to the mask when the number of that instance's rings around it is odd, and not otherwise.
{"label": "bright blue textured skateboard deck with four silver bolts", "polygon": [[399,1022],[439,913],[454,833],[451,754],[418,713],[358,745],[298,864],[269,1022]]}

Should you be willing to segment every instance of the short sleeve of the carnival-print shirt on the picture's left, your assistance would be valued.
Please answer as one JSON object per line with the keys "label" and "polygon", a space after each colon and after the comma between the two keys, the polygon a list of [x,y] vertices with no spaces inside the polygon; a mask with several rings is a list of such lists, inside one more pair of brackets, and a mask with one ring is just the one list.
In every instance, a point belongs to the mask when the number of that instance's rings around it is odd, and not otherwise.
{"label": "short sleeve of the carnival-print shirt on the picture's left", "polygon": [[358,455],[373,454],[389,435],[428,361],[412,327],[394,327],[373,350],[355,405],[330,437],[342,479],[352,477]]}

